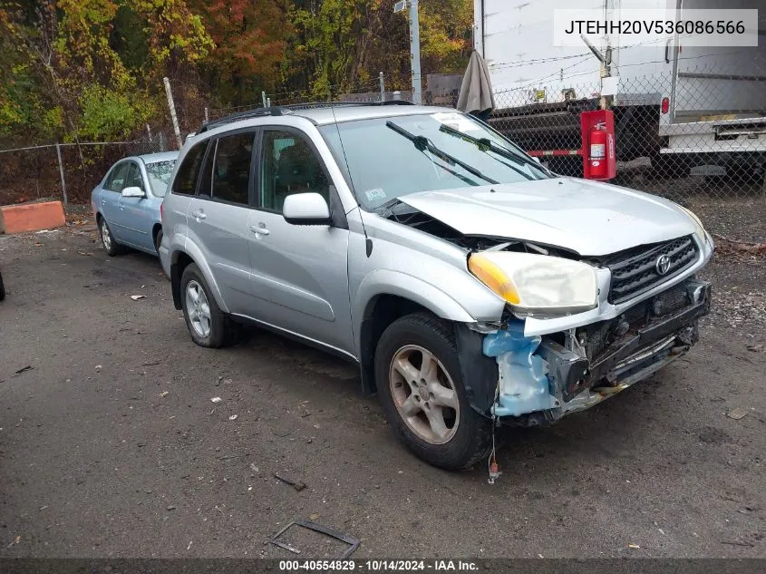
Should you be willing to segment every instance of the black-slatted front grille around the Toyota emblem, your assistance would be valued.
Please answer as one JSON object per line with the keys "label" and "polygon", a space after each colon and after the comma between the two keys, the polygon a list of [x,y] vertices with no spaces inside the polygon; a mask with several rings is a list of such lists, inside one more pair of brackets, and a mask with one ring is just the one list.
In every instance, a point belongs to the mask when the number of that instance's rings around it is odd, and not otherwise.
{"label": "black-slatted front grille around the Toyota emblem", "polygon": [[[657,261],[662,256],[667,256],[670,262],[667,271],[660,275]],[[606,263],[612,272],[609,302],[622,303],[661,285],[690,268],[696,258],[697,244],[691,236],[617,254]]]}

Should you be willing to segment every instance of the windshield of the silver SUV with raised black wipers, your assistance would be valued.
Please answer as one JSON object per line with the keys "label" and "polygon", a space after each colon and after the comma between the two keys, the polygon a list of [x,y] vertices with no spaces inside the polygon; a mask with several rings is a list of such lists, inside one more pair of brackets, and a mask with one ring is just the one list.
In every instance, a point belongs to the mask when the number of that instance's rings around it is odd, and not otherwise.
{"label": "windshield of the silver SUV with raised black wipers", "polygon": [[552,177],[499,134],[457,112],[341,122],[320,131],[344,171],[347,162],[346,175],[365,209],[420,191]]}

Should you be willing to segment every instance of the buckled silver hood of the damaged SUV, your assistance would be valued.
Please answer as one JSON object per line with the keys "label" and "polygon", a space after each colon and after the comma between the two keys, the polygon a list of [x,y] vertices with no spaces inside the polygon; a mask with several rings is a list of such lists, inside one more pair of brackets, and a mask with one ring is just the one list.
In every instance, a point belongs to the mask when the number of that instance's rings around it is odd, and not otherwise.
{"label": "buckled silver hood of the damaged SUV", "polygon": [[463,235],[521,239],[581,256],[679,238],[695,229],[671,201],[570,178],[424,191],[399,199]]}

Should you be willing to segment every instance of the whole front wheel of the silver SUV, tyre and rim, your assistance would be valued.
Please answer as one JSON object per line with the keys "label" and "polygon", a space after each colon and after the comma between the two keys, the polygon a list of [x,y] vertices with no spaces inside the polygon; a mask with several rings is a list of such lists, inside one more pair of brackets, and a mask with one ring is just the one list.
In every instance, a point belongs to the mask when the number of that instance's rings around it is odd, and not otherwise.
{"label": "whole front wheel of the silver SUV, tyre and rim", "polygon": [[491,422],[470,407],[451,329],[437,317],[415,313],[388,326],[375,380],[394,432],[425,462],[459,470],[489,455]]}

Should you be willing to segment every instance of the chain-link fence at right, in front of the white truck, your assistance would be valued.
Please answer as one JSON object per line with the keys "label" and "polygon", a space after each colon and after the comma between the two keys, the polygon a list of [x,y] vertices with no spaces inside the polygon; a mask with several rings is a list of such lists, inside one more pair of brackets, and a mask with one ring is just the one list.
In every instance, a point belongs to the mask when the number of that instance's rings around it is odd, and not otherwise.
{"label": "chain-link fence at right, in front of the white truck", "polygon": [[[708,65],[676,75],[621,77],[615,113],[617,182],[674,198],[766,194],[766,62],[733,75]],[[496,94],[490,124],[552,170],[582,177],[580,113],[596,110],[598,85]]]}

